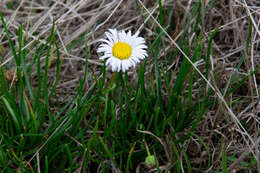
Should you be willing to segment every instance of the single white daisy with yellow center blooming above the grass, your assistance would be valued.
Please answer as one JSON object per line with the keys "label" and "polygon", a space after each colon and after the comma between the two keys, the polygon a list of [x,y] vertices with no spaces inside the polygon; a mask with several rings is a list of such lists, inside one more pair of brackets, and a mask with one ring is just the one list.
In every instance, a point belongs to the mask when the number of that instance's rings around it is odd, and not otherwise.
{"label": "single white daisy with yellow center blooming above the grass", "polygon": [[130,67],[135,67],[140,60],[147,56],[147,46],[142,37],[138,37],[138,32],[134,35],[131,31],[117,31],[109,29],[105,32],[107,39],[101,39],[103,43],[99,46],[97,52],[103,52],[100,60],[106,61],[106,66],[110,66],[112,71],[125,72]]}

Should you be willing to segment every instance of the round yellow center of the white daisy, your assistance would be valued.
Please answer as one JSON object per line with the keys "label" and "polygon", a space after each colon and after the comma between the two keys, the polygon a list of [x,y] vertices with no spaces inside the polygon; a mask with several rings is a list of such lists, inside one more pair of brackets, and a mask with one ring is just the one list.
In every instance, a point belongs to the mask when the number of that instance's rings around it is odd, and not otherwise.
{"label": "round yellow center of the white daisy", "polygon": [[114,44],[112,48],[113,56],[120,60],[128,59],[131,56],[131,52],[132,52],[131,46],[121,41]]}

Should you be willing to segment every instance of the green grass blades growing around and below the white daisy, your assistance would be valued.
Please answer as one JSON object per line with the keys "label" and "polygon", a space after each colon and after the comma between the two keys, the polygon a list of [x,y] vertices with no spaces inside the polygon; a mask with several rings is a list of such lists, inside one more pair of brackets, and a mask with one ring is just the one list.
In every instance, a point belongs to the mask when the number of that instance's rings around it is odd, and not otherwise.
{"label": "green grass blades growing around and below the white daisy", "polygon": [[[176,28],[167,23],[165,14],[171,13],[171,9],[164,9],[161,0],[158,2],[158,22],[170,32]],[[142,6],[136,5],[144,13]],[[200,1],[192,4],[177,44],[206,79],[217,81],[219,76],[212,71],[210,58],[219,28],[213,28],[208,36],[203,33],[201,8]],[[89,52],[85,35],[81,35],[68,47],[73,49],[85,40],[84,73],[75,83],[74,94],[64,97],[64,101],[57,94],[65,60],[55,22],[46,43],[39,41],[34,46],[27,46],[30,38],[23,34],[25,26],[19,27],[18,39],[13,41],[3,15],[1,22],[14,61],[0,66],[0,172],[127,173],[154,169],[166,173],[212,169],[210,142],[200,136],[198,128],[212,110],[228,121],[230,117],[223,113],[224,106],[217,111],[221,101],[215,91],[184,55],[169,45],[162,29],[156,28],[156,35],[147,41],[149,57],[137,68],[135,82],[127,72],[110,75],[105,62],[92,68],[88,60],[95,50]],[[259,70],[258,67],[247,75],[238,73],[252,42],[252,28],[251,23],[244,53],[230,82],[220,89],[226,98],[238,92]],[[236,107],[243,98],[235,99],[227,101],[229,106]],[[249,129],[246,120],[241,123]],[[255,127],[259,131],[259,124]],[[219,134],[212,136],[216,141],[223,140]],[[205,151],[204,156],[196,155],[203,157],[199,166],[187,149],[191,139]],[[229,155],[224,146],[215,153],[221,161],[214,169],[216,172],[228,172],[229,164],[239,157]],[[253,155],[239,165],[257,169]]]}

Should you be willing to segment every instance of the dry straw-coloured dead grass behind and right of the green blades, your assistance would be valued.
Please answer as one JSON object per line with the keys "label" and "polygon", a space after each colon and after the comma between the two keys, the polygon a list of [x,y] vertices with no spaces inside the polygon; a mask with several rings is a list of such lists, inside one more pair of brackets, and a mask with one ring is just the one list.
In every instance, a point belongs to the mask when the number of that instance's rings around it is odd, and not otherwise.
{"label": "dry straw-coloured dead grass behind and right of the green blades", "polygon": [[[259,70],[249,76],[246,84],[228,97],[223,97],[220,92],[229,85],[233,72],[237,71],[237,74],[246,76],[260,65],[260,2],[258,0],[223,0],[219,3],[214,0],[202,1],[204,4],[201,11],[203,24],[200,28],[203,31],[205,52],[209,35],[216,27],[219,27],[212,45],[210,75],[207,79],[203,76],[208,82],[208,87],[214,89],[215,97],[218,97],[219,101],[212,110],[206,113],[195,131],[205,141],[211,152],[213,162],[208,172],[221,166],[219,153],[224,148],[227,150],[227,155],[238,157],[236,162],[228,165],[229,171],[240,170],[238,165],[240,161],[255,157],[260,172]],[[136,8],[136,3],[141,9]],[[164,16],[164,20],[170,24],[171,28],[164,37],[166,52],[161,52],[163,61],[164,54],[169,55],[171,49],[177,46],[176,42],[184,32],[194,1],[162,0],[162,4],[165,11],[168,8],[174,9],[170,15]],[[146,8],[149,12],[146,11]],[[209,11],[210,8],[212,9]],[[108,28],[140,30],[141,35],[148,40],[148,43],[151,43],[157,34],[156,29],[161,27],[155,20],[158,18],[158,11],[158,3],[153,0],[3,0],[0,2],[0,12],[3,13],[8,23],[12,39],[17,40],[17,29],[22,24],[24,34],[29,38],[28,48],[32,50],[31,53],[33,53],[36,41],[46,42],[54,20],[63,59],[62,76],[57,86],[57,95],[64,102],[73,96],[78,79],[84,73],[85,38],[89,48],[89,68],[93,74],[98,75],[102,62],[98,60],[96,48],[104,31]],[[253,24],[252,41],[249,51],[246,52],[245,46],[250,22]],[[13,57],[3,31],[0,41],[1,56],[3,57],[1,66],[5,64],[12,66]],[[243,54],[245,54],[244,63],[237,70],[236,67]],[[172,62],[169,69],[175,68],[178,73],[179,61],[176,59]],[[150,60],[148,60],[148,64],[147,76],[152,69]],[[201,67],[205,66],[205,62],[197,62],[193,66],[198,71],[202,71]],[[131,82],[134,86],[137,72],[131,70],[129,74],[132,76]],[[51,68],[49,76],[53,80],[55,79],[55,66]],[[86,81],[85,91],[90,87]],[[239,101],[236,102],[236,99]],[[55,109],[55,100],[52,101],[52,104]],[[246,130],[244,126],[247,126]],[[215,140],[216,136],[222,136],[222,140]],[[204,164],[207,151],[202,144],[197,139],[190,139],[185,145],[192,164],[198,167]]]}

